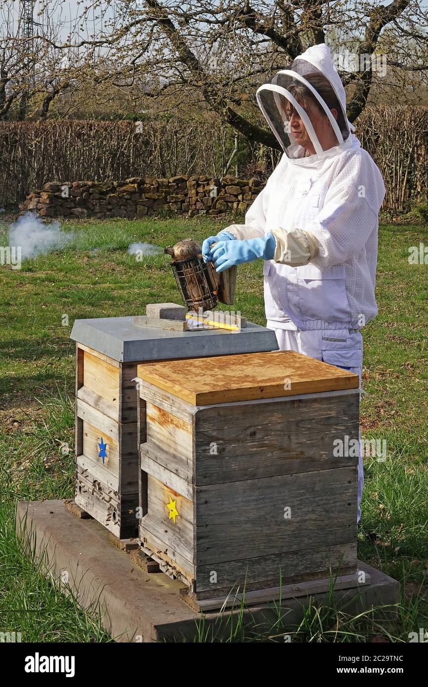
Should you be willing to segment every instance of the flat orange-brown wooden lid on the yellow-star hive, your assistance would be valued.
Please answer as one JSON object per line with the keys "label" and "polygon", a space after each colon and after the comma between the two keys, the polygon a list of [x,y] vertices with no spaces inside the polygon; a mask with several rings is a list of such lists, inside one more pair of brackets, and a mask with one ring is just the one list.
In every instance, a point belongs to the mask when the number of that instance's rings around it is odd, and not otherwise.
{"label": "flat orange-brown wooden lid on the yellow-star hive", "polygon": [[138,365],[140,379],[192,405],[357,389],[359,376],[294,351]]}

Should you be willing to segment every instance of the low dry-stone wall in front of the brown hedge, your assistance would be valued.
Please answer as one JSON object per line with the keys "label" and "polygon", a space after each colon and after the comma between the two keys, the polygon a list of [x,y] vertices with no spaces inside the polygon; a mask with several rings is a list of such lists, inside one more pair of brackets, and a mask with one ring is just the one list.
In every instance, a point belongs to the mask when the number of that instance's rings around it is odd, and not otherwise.
{"label": "low dry-stone wall in front of the brown hedge", "polygon": [[131,177],[125,181],[49,181],[19,205],[45,217],[141,218],[157,212],[244,214],[265,182],[210,177]]}

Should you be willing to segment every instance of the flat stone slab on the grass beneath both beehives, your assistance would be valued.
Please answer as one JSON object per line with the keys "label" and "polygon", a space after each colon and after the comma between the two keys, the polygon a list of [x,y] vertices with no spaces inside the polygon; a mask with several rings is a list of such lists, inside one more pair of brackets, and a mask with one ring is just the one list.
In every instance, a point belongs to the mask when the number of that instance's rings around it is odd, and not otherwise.
{"label": "flat stone slab on the grass beneath both beehives", "polygon": [[[119,642],[193,641],[197,638],[199,613],[179,598],[184,585],[164,573],[148,574],[136,567],[129,554],[109,543],[109,532],[95,520],[82,520],[65,508],[62,500],[19,502],[16,532],[23,537],[27,550],[41,559],[45,572],[63,580],[64,591],[71,589],[82,607],[98,612],[102,624]],[[399,583],[359,562],[359,569],[371,576],[370,585],[335,592],[337,603],[347,603],[347,613],[372,606],[398,602]],[[67,583],[68,580],[68,583]],[[325,602],[326,594],[312,596],[315,603]],[[307,598],[282,600],[286,623],[300,622]],[[392,607],[391,612],[394,611]],[[216,628],[229,622],[232,612],[219,618],[207,613],[205,624]],[[244,613],[244,622],[249,620]],[[382,611],[383,613],[385,611]],[[272,624],[278,611],[272,604],[251,606],[257,622]]]}

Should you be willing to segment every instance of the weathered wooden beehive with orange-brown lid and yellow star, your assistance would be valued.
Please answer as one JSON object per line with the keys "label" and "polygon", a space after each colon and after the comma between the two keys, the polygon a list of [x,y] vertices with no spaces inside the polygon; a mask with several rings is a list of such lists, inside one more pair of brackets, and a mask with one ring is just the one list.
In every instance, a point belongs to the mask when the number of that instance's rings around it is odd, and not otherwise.
{"label": "weathered wooden beehive with orange-brown lid and yellow star", "polygon": [[138,376],[139,541],[188,600],[356,573],[357,375],[266,352]]}

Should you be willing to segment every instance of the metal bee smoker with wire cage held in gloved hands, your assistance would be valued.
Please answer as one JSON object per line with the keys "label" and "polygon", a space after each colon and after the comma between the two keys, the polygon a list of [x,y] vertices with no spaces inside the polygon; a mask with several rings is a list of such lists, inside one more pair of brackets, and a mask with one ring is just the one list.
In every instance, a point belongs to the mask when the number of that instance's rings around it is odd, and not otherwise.
{"label": "metal bee smoker with wire cage held in gloved hands", "polygon": [[191,238],[168,246],[165,252],[172,256],[172,272],[188,310],[212,310],[218,301],[234,303],[237,267],[218,274],[212,262],[203,260],[201,246]]}

